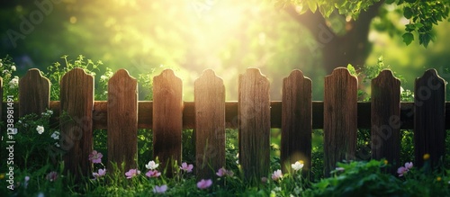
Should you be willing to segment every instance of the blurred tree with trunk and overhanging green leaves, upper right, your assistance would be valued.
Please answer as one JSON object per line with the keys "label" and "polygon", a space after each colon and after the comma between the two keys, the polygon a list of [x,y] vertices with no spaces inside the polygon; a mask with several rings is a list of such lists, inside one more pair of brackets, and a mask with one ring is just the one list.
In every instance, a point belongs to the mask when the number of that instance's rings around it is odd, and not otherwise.
{"label": "blurred tree with trunk and overhanging green leaves, upper right", "polygon": [[[315,46],[323,53],[324,66],[328,72],[348,63],[361,67],[371,52],[368,41],[370,24],[374,17],[386,19],[384,5],[396,5],[408,22],[402,34],[409,45],[419,38],[419,44],[428,47],[436,40],[433,27],[448,18],[450,1],[421,0],[275,0],[275,4],[285,9],[311,30],[319,41]],[[380,8],[382,10],[380,11]],[[383,20],[383,31],[396,31],[389,20]],[[397,31],[398,32],[398,31]],[[414,35],[416,34],[416,35]]]}

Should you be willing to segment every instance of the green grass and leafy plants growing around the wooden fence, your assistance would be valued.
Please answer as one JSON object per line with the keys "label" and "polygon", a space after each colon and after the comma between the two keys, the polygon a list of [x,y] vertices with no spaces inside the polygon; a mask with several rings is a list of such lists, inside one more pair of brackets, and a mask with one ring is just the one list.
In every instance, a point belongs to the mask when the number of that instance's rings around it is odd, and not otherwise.
{"label": "green grass and leafy plants growing around the wooden fence", "polygon": [[[14,63],[9,60],[2,60],[3,66],[9,71],[4,72],[4,77],[8,74],[8,79],[13,80]],[[80,67],[85,72],[94,74],[100,70],[97,64],[92,60],[83,60],[80,56],[74,64],[70,60],[64,58],[67,62],[65,66],[52,66],[51,72],[44,73],[44,76],[53,80],[55,83],[58,77],[64,76],[69,69],[67,67]],[[379,58],[378,64],[374,67],[365,67],[365,69],[356,71],[350,65],[348,68],[353,75],[363,77],[365,80],[371,79],[384,68],[383,58]],[[151,85],[151,76],[139,76],[139,81],[146,85]],[[112,71],[105,69],[104,74],[97,81],[95,90],[95,98],[105,98],[106,82],[112,77]],[[13,77],[14,78],[14,77]],[[7,82],[7,81],[6,81]],[[4,90],[8,94],[17,94],[17,85],[12,83],[4,83]],[[53,86],[52,85],[52,86]],[[58,87],[55,87],[58,91]],[[16,96],[17,97],[17,96]],[[145,97],[151,98],[151,94]],[[58,94],[54,94],[54,99],[58,99]],[[366,101],[370,99],[370,95],[361,92],[361,98]],[[410,100],[411,94],[403,94],[403,100]],[[436,171],[431,171],[428,166],[424,168],[408,168],[408,172],[398,175],[387,173],[388,167],[397,168],[398,164],[387,164],[385,161],[354,161],[338,164],[333,177],[323,178],[323,131],[314,130],[312,140],[312,170],[309,173],[302,170],[292,171],[286,174],[275,174],[280,169],[279,145],[273,140],[271,153],[271,172],[274,174],[267,175],[265,180],[257,185],[251,185],[243,181],[238,160],[238,133],[236,130],[227,130],[226,139],[226,169],[228,172],[223,175],[217,175],[211,179],[211,186],[205,186],[204,189],[199,187],[199,180],[192,173],[180,168],[180,164],[174,164],[176,173],[174,177],[166,177],[164,169],[155,168],[160,175],[148,177],[148,172],[143,171],[148,168],[147,162],[152,159],[152,134],[151,130],[139,130],[139,166],[142,170],[139,175],[127,178],[123,172],[130,169],[123,169],[121,164],[117,164],[113,169],[106,169],[106,175],[102,174],[104,165],[102,162],[93,162],[93,170],[96,175],[86,176],[82,182],[76,183],[73,178],[67,176],[63,172],[64,163],[61,162],[61,156],[64,152],[58,148],[59,138],[55,133],[58,132],[58,125],[51,123],[51,117],[58,116],[51,111],[42,114],[31,114],[22,117],[16,123],[18,131],[14,134],[17,145],[14,149],[14,191],[6,188],[6,174],[0,174],[2,184],[0,184],[0,192],[18,196],[360,196],[360,195],[401,195],[401,196],[435,196],[450,194],[450,173],[443,166]],[[71,121],[64,114],[59,117],[60,121]],[[412,154],[412,131],[402,131],[402,150],[401,162],[411,161]],[[94,130],[94,149],[103,153],[103,161],[107,158],[106,151],[106,132],[105,130]],[[358,153],[364,151],[364,147],[370,146],[369,130],[358,131]],[[6,147],[6,142],[2,140],[2,147]],[[187,164],[194,165],[194,143],[193,130],[183,131],[183,161]],[[1,152],[1,157],[6,157],[6,152]],[[85,158],[89,159],[89,158]],[[300,162],[299,162],[300,164]],[[392,165],[392,166],[391,166]],[[405,165],[406,166],[406,165]],[[193,166],[195,167],[195,166]],[[160,171],[158,171],[160,170]],[[211,169],[215,173],[220,173],[219,169]],[[7,172],[2,166],[0,172]],[[232,172],[232,175],[231,173]],[[156,193],[157,188],[160,189],[166,185],[165,192]],[[159,190],[158,189],[158,190]],[[155,190],[155,192],[154,192]],[[162,189],[161,189],[162,191]],[[160,191],[160,192],[161,192]]]}

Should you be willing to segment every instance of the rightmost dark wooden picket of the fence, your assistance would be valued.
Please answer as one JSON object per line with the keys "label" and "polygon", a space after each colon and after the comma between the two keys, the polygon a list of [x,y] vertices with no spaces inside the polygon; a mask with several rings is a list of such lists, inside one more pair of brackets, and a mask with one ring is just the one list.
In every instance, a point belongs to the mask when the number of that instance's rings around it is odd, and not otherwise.
{"label": "rightmost dark wooden picket of the fence", "polygon": [[[416,79],[414,87],[414,150],[417,166],[430,155],[432,166],[445,157],[446,81],[435,69],[428,69]],[[443,159],[444,160],[444,159]]]}

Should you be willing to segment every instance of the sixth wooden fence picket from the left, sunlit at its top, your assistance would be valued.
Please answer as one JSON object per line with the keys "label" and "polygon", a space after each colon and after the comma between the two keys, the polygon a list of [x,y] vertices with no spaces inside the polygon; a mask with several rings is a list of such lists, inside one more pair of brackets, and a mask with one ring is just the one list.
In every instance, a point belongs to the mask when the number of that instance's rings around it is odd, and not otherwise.
{"label": "sixth wooden fence picket from the left, sunlit at its top", "polygon": [[239,164],[247,180],[260,181],[270,164],[269,81],[257,68],[238,81]]}

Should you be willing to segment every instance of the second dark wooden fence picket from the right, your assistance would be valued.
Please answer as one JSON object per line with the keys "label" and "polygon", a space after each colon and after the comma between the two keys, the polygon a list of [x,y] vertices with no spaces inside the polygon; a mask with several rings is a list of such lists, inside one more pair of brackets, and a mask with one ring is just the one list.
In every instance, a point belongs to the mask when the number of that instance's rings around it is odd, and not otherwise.
{"label": "second dark wooden fence picket from the right", "polygon": [[400,85],[391,70],[383,70],[372,80],[372,158],[387,159],[393,173],[400,164]]}

